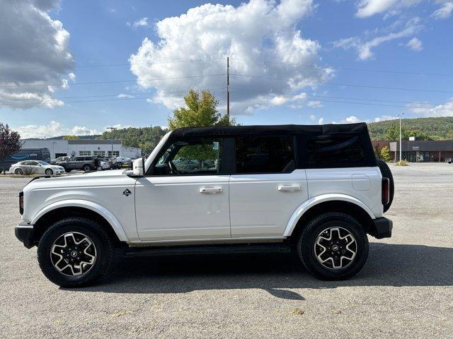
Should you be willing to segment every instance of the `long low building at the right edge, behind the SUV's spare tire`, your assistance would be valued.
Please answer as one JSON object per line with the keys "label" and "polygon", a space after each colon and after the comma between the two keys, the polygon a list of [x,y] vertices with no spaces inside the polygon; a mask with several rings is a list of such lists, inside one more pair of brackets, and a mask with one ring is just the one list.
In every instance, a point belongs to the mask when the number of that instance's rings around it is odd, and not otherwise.
{"label": "long low building at the right edge, behind the SUV's spare tire", "polygon": [[[394,161],[399,160],[399,141],[372,141],[374,149],[389,147]],[[401,157],[409,162],[444,162],[453,159],[453,141],[409,140],[401,142]]]}

